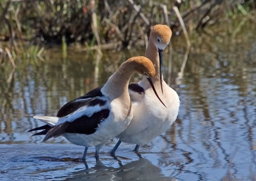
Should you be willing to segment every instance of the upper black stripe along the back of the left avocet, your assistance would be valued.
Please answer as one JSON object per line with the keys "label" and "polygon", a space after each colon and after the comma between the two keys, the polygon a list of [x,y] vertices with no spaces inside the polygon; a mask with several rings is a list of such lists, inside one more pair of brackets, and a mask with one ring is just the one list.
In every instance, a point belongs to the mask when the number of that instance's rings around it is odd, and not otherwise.
{"label": "upper black stripe along the back of the left avocet", "polygon": [[[97,87],[97,88],[93,89],[92,91],[88,92],[87,94],[85,94],[84,96],[81,96],[79,98],[76,98],[76,99],[66,103],[58,111],[57,117],[64,117],[66,115],[69,115],[72,112],[75,112],[77,109],[81,108],[81,106],[88,105],[88,103],[90,103],[90,101],[92,101],[92,99],[88,99],[88,98],[102,97],[103,95],[100,91],[101,88],[102,87]],[[95,101],[94,101],[94,103],[95,103]]]}

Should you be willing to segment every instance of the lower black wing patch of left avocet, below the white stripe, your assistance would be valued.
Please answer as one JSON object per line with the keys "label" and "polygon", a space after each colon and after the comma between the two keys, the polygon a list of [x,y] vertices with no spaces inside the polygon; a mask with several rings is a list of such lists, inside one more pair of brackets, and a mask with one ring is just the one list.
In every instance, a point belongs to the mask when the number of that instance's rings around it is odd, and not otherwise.
{"label": "lower black wing patch of left avocet, below the white stripe", "polygon": [[109,110],[104,109],[100,112],[93,113],[91,117],[83,115],[72,122],[64,122],[58,126],[52,127],[46,134],[43,141],[49,138],[60,136],[65,133],[77,133],[77,134],[93,134],[100,126],[100,122],[107,119],[109,116]]}

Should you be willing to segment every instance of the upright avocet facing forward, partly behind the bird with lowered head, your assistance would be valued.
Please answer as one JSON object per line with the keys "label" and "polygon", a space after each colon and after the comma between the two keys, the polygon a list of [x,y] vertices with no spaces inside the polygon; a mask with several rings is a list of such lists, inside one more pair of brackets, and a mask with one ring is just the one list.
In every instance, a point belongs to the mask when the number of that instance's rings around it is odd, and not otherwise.
{"label": "upright avocet facing forward, partly behind the bird with lowered head", "polygon": [[143,78],[140,83],[129,85],[129,94],[132,100],[134,116],[125,131],[118,136],[111,154],[115,154],[116,149],[122,141],[134,143],[135,152],[138,152],[140,145],[148,143],[150,140],[162,134],[173,124],[179,112],[179,96],[163,80],[161,66],[163,64],[163,51],[169,44],[172,31],[167,25],[155,25],[150,33],[145,56],[150,59],[155,68],[156,75],[152,78],[157,92],[167,108],[159,105],[159,101],[153,97],[153,90],[150,88],[147,78]]}

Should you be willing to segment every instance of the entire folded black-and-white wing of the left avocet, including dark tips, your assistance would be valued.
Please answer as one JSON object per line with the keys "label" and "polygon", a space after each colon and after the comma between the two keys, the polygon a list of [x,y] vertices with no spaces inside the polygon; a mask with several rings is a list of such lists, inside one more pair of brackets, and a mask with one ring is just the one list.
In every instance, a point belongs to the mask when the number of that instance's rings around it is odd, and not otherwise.
{"label": "entire folded black-and-white wing of the left avocet, including dark tips", "polygon": [[109,103],[100,89],[101,87],[93,89],[62,106],[57,113],[59,120],[55,126],[41,126],[29,131],[44,129],[34,134],[46,134],[43,141],[65,133],[95,133],[100,123],[108,118],[110,112]]}

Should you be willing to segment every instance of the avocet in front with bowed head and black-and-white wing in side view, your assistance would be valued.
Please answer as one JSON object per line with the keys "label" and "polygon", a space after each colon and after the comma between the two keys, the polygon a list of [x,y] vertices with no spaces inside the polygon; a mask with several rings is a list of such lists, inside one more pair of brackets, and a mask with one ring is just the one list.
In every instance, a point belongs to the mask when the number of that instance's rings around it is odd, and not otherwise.
{"label": "avocet in front with bowed head and black-and-white wing in side view", "polygon": [[99,157],[102,145],[122,133],[132,119],[128,85],[136,72],[147,77],[154,89],[150,77],[156,71],[152,62],[146,57],[132,57],[122,63],[103,87],[93,89],[61,107],[57,117],[35,116],[47,125],[29,131],[44,130],[33,134],[46,134],[43,141],[65,136],[71,143],[85,147],[83,159],[88,147],[95,146],[95,157]]}

